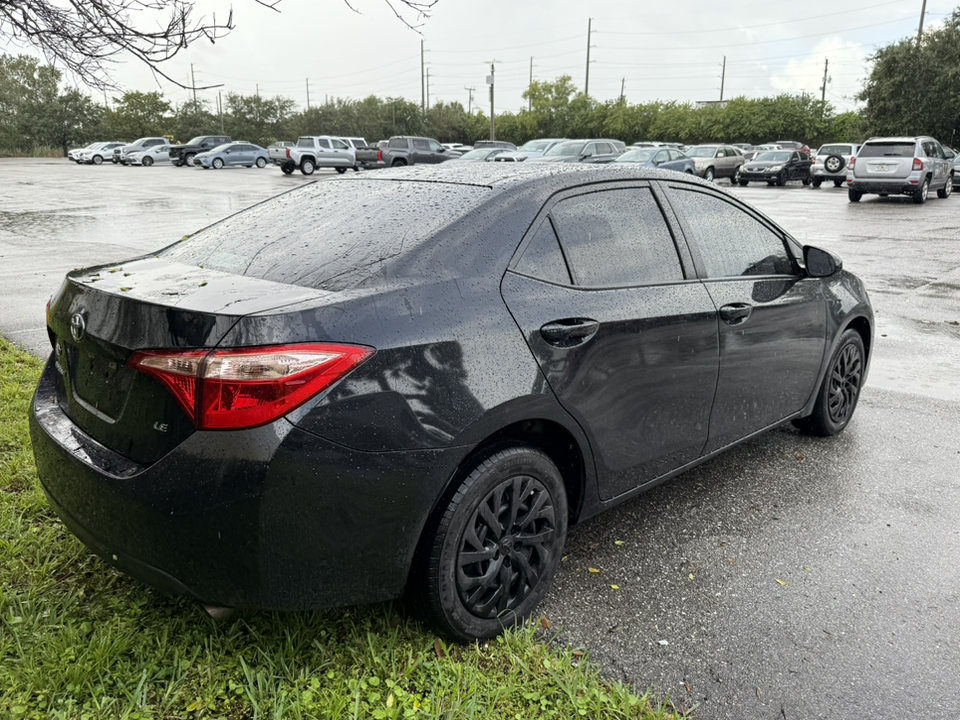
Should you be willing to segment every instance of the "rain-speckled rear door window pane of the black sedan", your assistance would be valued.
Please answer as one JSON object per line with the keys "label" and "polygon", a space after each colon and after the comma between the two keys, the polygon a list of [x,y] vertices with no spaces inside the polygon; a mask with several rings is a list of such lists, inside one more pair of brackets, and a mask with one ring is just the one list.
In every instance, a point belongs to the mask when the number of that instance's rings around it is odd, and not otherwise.
{"label": "rain-speckled rear door window pane of the black sedan", "polygon": [[649,188],[578,195],[558,202],[550,215],[580,285],[684,279],[673,236]]}

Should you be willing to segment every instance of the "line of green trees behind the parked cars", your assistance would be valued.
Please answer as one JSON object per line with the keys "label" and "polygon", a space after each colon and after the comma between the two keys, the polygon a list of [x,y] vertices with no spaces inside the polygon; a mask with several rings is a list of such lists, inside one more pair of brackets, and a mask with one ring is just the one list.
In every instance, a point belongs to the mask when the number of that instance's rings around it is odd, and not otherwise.
{"label": "line of green trees behind the parked cars", "polygon": [[[960,10],[925,34],[881,48],[858,99],[859,112],[837,113],[809,94],[733,98],[698,106],[676,101],[600,102],[578,91],[569,76],[534,82],[529,108],[498,113],[497,139],[518,145],[537,137],[610,137],[698,142],[800,140],[857,142],[870,135],[929,134],[947,144],[960,128]],[[219,110],[206,100],[173,104],[159,92],[125,92],[103,105],[63,86],[55,68],[27,56],[0,55],[0,154],[65,154],[95,140],[170,135],[186,141],[224,133],[260,145],[300,135],[426,135],[441,142],[489,137],[490,119],[458,102],[421,111],[399,97],[332,98],[298,107],[290,98],[228,92]]]}

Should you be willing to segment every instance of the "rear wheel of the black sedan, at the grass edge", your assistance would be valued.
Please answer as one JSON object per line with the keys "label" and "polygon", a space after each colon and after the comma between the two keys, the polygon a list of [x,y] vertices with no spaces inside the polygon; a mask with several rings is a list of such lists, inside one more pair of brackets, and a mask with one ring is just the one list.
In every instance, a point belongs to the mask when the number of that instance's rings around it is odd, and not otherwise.
{"label": "rear wheel of the black sedan, at the grass edge", "polygon": [[494,637],[536,610],[566,534],[557,466],[531,447],[499,450],[474,465],[428,527],[408,597],[444,637]]}

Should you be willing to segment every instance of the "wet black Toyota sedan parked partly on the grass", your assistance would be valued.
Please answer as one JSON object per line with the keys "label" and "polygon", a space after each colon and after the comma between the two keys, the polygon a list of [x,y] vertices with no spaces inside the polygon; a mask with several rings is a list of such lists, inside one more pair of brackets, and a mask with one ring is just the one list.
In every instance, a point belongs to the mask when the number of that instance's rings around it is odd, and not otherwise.
{"label": "wet black Toyota sedan parked partly on the grass", "polygon": [[301,187],[69,273],[47,323],[37,469],[106,562],[207,606],[406,591],[456,640],[535,610],[570,523],[843,430],[874,337],[839,259],[712,184],[533,163]]}

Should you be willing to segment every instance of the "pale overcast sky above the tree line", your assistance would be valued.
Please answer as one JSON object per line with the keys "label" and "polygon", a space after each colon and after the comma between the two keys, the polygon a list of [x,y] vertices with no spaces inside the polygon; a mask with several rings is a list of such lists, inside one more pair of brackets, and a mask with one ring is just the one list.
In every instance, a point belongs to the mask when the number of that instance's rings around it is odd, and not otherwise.
{"label": "pale overcast sky above the tree line", "polygon": [[[924,29],[949,16],[954,2],[927,0]],[[416,30],[388,0],[280,0],[279,12],[254,0],[196,0],[194,18],[222,20],[231,5],[229,35],[164,64],[186,85],[192,70],[197,86],[217,86],[197,91],[214,108],[218,92],[281,95],[301,107],[308,93],[311,105],[371,94],[419,103],[422,41],[430,104],[489,112],[493,61],[495,111],[516,112],[526,107],[531,63],[534,80],[570,75],[585,87],[589,27],[589,93],[597,100],[621,91],[630,103],[719,100],[721,81],[726,99],[819,97],[828,62],[826,99],[844,112],[857,107],[871,53],[916,37],[923,0],[437,0],[429,17],[403,12]],[[5,50],[37,54],[12,43]],[[192,94],[135,60],[111,74],[119,90],[108,100],[124,90],[160,91],[178,104]]]}

